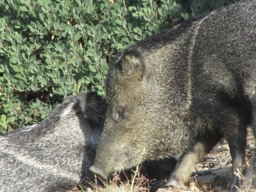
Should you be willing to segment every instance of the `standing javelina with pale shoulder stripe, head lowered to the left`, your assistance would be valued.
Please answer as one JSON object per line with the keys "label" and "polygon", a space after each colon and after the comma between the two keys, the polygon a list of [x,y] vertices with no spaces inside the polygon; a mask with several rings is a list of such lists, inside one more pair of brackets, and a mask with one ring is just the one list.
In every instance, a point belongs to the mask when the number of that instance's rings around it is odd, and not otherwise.
{"label": "standing javelina with pale shoulder stripe, head lowered to the left", "polygon": [[143,161],[182,154],[167,182],[182,187],[224,137],[234,189],[244,173],[246,127],[256,134],[256,1],[133,44],[110,64],[106,84],[108,110],[92,172],[107,178],[135,166],[143,148]]}

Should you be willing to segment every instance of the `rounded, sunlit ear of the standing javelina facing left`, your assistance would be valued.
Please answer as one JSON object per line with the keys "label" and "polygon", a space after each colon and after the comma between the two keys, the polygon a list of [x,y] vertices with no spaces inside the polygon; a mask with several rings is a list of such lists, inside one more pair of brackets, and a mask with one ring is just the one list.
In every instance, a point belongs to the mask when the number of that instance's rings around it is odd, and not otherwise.
{"label": "rounded, sunlit ear of the standing javelina facing left", "polygon": [[122,70],[131,79],[146,82],[143,57],[138,49],[125,50],[122,58]]}

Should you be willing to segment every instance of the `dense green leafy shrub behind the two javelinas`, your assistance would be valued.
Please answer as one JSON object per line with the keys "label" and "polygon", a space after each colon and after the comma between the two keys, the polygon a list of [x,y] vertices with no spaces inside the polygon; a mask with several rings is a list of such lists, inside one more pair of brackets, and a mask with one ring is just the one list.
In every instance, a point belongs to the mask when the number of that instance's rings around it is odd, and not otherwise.
{"label": "dense green leafy shrub behind the two javelinas", "polygon": [[119,49],[229,3],[0,0],[0,133],[38,123],[67,95],[104,97]]}

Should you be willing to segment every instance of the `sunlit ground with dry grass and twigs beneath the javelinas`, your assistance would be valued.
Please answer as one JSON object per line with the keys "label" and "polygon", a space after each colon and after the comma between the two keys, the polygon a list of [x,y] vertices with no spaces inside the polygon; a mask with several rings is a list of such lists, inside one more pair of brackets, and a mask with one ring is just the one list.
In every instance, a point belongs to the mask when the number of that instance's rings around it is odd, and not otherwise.
{"label": "sunlit ground with dry grass and twigs beneath the javelinas", "polygon": [[[251,129],[248,130],[246,146],[247,168],[255,153],[255,140]],[[204,161],[197,164],[195,172],[192,172],[186,189],[163,188],[165,181],[149,181],[141,174],[134,173],[132,181],[123,182],[118,174],[104,186],[92,184],[89,189],[81,187],[73,189],[73,192],[228,192],[232,180],[232,159],[228,144],[225,140],[218,143],[212,151],[205,156]],[[166,178],[167,179],[167,178]],[[167,180],[166,180],[167,181]],[[256,189],[240,190],[241,192],[256,192]]]}

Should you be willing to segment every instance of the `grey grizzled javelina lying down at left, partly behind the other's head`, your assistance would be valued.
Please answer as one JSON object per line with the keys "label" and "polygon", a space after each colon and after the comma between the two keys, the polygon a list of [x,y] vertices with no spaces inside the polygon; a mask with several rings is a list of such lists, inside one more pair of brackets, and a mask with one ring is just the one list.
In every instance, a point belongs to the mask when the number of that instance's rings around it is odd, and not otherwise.
{"label": "grey grizzled javelina lying down at left, partly behind the other's head", "polygon": [[0,136],[0,191],[56,191],[94,180],[105,118],[105,100],[94,92],[67,98],[37,125]]}

